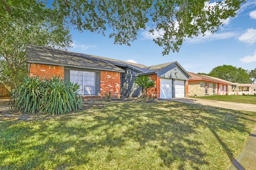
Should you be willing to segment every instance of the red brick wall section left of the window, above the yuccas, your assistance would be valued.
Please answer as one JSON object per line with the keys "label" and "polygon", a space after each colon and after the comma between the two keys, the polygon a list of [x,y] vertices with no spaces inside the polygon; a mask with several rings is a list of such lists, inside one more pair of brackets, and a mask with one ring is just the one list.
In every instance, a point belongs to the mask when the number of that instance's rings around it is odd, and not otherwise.
{"label": "red brick wall section left of the window, above the yuccas", "polygon": [[30,65],[30,77],[31,76],[45,76],[45,78],[52,78],[53,76],[60,76],[64,78],[64,69],[60,66],[46,65],[46,64],[31,64]]}

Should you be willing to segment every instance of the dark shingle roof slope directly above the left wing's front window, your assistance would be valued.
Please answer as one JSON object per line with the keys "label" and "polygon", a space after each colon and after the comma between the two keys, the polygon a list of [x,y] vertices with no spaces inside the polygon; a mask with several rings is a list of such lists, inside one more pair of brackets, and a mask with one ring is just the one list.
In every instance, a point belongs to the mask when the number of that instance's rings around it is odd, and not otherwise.
{"label": "dark shingle roof slope directly above the left wing's front window", "polygon": [[64,66],[124,72],[124,70],[114,64],[98,59],[93,55],[74,53],[35,45],[27,46],[26,59],[28,63],[52,65],[63,63]]}

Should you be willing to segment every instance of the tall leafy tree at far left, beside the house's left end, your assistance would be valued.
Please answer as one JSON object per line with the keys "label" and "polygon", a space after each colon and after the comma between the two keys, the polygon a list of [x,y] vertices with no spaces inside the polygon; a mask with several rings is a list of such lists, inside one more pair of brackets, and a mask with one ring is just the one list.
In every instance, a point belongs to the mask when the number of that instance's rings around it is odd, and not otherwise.
{"label": "tall leafy tree at far left, beside the house's left end", "polygon": [[26,74],[26,45],[65,49],[71,36],[63,16],[36,0],[0,0],[0,82],[16,85]]}

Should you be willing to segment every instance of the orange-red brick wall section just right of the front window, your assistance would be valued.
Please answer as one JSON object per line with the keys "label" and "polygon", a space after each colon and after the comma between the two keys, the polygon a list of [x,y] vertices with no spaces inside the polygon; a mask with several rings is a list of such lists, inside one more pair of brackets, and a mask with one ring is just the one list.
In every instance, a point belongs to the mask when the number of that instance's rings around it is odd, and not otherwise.
{"label": "orange-red brick wall section just right of the front window", "polygon": [[111,98],[120,98],[120,73],[111,71],[100,72],[100,96],[106,98],[104,92],[109,94]]}

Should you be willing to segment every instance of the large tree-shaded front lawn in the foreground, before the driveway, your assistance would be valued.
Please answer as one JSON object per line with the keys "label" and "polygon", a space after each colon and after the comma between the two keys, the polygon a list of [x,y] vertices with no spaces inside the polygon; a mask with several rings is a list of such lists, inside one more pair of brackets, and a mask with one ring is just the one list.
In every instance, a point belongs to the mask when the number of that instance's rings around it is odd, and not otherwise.
{"label": "large tree-shaded front lawn in the foreground, before the driveway", "polygon": [[112,103],[0,123],[0,169],[226,169],[256,112],[177,102]]}

